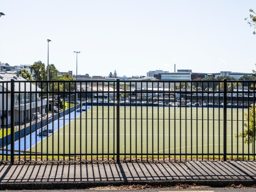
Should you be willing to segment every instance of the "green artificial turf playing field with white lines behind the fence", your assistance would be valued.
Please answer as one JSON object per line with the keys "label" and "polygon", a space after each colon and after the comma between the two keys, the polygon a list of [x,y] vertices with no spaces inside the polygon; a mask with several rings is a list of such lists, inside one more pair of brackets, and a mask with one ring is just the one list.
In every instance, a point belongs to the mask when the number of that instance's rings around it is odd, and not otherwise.
{"label": "green artificial turf playing field with white lines behind the fence", "polygon": [[[245,112],[248,109],[227,109],[228,154],[248,153],[248,145],[235,136],[244,129]],[[116,106],[93,106],[32,146],[31,151],[115,154],[116,117]],[[252,145],[249,150],[252,152]],[[222,153],[222,108],[120,107],[120,154]]]}

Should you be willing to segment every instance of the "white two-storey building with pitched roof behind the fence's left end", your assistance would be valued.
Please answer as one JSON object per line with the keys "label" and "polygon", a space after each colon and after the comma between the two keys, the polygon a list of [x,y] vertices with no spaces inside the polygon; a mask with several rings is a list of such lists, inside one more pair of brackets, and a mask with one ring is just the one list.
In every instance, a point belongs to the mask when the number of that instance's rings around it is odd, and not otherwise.
{"label": "white two-storey building with pitched roof behind the fence's left end", "polygon": [[[41,101],[38,93],[31,94],[29,92],[40,92],[40,88],[36,88],[34,84],[26,81],[21,76],[14,74],[0,73],[0,126],[9,125],[11,122],[11,84],[10,80],[14,79],[14,122],[21,124],[24,123],[25,116],[26,122],[34,120],[35,114],[46,113],[47,100]],[[30,86],[31,85],[31,86]],[[30,88],[31,87],[31,88]],[[9,93],[6,93],[9,92]],[[36,106],[37,102],[37,106]],[[31,106],[30,106],[31,104]],[[41,110],[42,108],[42,110]],[[20,114],[20,117],[19,117]],[[32,115],[32,116],[31,116]]]}

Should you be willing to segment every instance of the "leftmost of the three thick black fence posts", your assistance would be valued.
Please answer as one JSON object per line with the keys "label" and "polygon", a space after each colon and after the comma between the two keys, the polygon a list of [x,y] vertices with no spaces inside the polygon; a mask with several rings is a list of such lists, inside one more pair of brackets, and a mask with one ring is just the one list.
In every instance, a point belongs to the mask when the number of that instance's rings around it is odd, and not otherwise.
{"label": "leftmost of the three thick black fence posts", "polygon": [[11,163],[14,163],[14,79],[11,79]]}

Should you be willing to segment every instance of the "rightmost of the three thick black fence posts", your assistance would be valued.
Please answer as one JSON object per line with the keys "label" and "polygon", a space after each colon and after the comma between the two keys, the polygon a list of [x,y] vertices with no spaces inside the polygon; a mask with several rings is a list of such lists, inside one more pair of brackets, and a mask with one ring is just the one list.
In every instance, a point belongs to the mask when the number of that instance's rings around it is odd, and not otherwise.
{"label": "rightmost of the three thick black fence posts", "polygon": [[223,160],[227,161],[227,80],[223,81]]}

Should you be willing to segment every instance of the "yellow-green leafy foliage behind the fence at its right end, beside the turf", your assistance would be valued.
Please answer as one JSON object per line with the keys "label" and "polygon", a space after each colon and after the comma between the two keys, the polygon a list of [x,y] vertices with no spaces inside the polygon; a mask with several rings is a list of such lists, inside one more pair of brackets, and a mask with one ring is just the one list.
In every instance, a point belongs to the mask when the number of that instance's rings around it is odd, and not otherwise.
{"label": "yellow-green leafy foliage behind the fence at its right end, beside the turf", "polygon": [[235,134],[236,137],[243,138],[245,144],[251,144],[254,142],[254,138],[256,138],[256,115],[254,114],[256,111],[255,105],[252,104],[252,107],[249,108],[249,114],[244,113],[244,131],[239,134]]}

